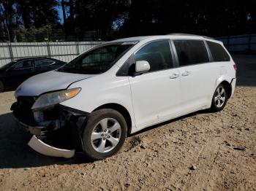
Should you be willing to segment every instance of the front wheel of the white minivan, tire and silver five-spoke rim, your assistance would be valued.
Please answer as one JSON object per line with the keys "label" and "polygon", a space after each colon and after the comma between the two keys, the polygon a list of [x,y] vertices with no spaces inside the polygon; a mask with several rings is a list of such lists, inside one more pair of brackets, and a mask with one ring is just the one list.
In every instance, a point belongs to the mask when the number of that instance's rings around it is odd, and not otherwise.
{"label": "front wheel of the white minivan, tire and silver five-spoke rim", "polygon": [[83,130],[83,152],[93,160],[115,155],[127,137],[127,122],[114,109],[92,112]]}

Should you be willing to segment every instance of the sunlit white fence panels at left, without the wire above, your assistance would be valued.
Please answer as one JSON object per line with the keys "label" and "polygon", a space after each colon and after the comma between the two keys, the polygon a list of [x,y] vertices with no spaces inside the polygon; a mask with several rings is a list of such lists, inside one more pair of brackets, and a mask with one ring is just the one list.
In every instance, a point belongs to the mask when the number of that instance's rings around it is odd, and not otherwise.
{"label": "sunlit white fence panels at left, without the wire above", "polygon": [[81,52],[102,42],[12,42],[0,43],[0,66],[26,57],[51,57],[71,61]]}

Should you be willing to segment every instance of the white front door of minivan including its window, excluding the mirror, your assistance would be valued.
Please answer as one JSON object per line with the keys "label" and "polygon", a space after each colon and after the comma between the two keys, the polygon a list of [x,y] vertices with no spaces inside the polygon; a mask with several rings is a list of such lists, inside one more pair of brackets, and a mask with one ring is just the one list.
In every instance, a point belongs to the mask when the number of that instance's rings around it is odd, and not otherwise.
{"label": "white front door of minivan including its window, excluding the mirror", "polygon": [[137,128],[175,117],[180,103],[180,75],[173,66],[168,39],[146,44],[134,54],[135,61],[148,61],[146,74],[129,77]]}

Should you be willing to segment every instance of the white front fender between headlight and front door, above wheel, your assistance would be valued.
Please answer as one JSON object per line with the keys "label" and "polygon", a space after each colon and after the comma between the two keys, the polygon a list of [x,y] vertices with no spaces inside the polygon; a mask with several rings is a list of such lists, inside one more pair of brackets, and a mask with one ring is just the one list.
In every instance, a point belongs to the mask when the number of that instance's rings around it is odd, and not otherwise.
{"label": "white front fender between headlight and front door, above wheel", "polygon": [[61,105],[91,113],[102,105],[118,104],[127,109],[132,119],[132,126],[135,126],[128,77],[95,77],[75,82],[69,88],[73,87],[81,87],[82,90]]}

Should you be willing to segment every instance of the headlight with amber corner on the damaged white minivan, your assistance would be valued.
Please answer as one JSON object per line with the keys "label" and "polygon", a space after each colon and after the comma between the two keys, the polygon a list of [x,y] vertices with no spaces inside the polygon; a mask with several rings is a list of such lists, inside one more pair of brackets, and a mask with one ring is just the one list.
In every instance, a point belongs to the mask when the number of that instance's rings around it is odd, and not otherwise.
{"label": "headlight with amber corner on the damaged white minivan", "polygon": [[37,111],[38,109],[47,109],[50,106],[54,106],[56,104],[61,103],[62,101],[66,101],[70,98],[78,95],[81,88],[72,88],[68,90],[61,90],[52,93],[45,93],[39,96],[37,100],[34,102],[34,105],[31,107],[32,110]]}

